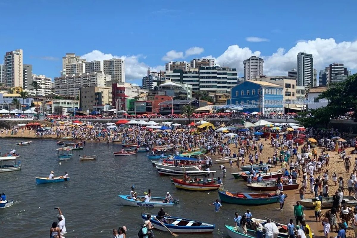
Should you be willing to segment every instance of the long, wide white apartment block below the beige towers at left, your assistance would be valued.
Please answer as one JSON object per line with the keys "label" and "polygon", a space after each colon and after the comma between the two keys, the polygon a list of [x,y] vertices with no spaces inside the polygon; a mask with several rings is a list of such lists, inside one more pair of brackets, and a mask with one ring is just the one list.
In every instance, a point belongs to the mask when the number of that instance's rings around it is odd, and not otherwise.
{"label": "long, wide white apartment block below the beige towers at left", "polygon": [[62,96],[77,97],[82,87],[105,87],[110,75],[102,72],[91,72],[76,75],[55,77],[55,93]]}

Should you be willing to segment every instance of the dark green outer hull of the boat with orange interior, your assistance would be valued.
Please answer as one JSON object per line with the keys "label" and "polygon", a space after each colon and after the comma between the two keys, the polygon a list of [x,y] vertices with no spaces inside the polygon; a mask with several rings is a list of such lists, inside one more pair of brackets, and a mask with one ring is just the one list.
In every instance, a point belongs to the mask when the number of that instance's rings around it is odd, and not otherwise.
{"label": "dark green outer hull of the boat with orange interior", "polygon": [[[243,194],[243,193],[242,193]],[[249,194],[249,193],[245,193]],[[265,205],[270,203],[276,203],[279,201],[279,197],[262,197],[262,198],[238,198],[236,196],[232,197],[227,195],[225,192],[218,192],[218,196],[220,197],[222,202],[239,204],[239,205]]]}

